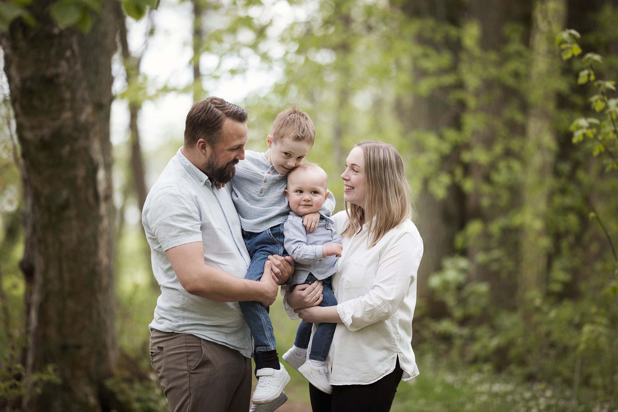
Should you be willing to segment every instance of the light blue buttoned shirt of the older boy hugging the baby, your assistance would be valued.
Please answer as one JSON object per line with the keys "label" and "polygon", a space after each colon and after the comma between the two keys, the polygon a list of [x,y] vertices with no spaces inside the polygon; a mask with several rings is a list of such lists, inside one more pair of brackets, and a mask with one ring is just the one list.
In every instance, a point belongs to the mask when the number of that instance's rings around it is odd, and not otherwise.
{"label": "light blue buttoned shirt of the older boy hugging the baby", "polygon": [[[287,175],[279,174],[264,153],[245,150],[245,159],[236,165],[231,185],[232,201],[243,230],[261,233],[287,221]],[[329,193],[320,214],[331,216],[334,209],[335,198]]]}

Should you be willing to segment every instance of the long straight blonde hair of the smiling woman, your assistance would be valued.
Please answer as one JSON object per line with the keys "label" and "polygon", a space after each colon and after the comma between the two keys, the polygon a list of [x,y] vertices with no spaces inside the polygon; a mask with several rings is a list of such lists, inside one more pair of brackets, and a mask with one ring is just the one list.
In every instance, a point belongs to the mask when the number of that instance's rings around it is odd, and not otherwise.
{"label": "long straight blonde hair of the smiling woman", "polygon": [[349,222],[341,234],[352,237],[358,233],[365,217],[371,248],[389,230],[412,218],[410,183],[405,178],[404,161],[393,146],[381,141],[362,141],[355,147],[363,151],[365,209],[345,202]]}

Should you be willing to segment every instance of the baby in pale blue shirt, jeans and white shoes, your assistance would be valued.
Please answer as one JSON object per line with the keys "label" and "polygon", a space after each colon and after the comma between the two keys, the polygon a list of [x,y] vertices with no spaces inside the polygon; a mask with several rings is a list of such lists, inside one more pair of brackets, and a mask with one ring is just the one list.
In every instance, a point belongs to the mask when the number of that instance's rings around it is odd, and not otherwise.
{"label": "baby in pale blue shirt, jeans and white shoes", "polygon": [[[297,285],[321,280],[323,299],[320,306],[334,306],[337,300],[332,293],[331,275],[337,271],[337,259],[341,257],[341,240],[329,217],[320,215],[320,221],[312,233],[305,233],[303,227],[303,216],[318,211],[328,198],[326,183],[326,172],[313,163],[303,163],[289,172],[286,196],[291,211],[283,230],[287,253],[296,263],[294,274],[287,282],[290,291]],[[313,335],[309,359],[305,361],[312,327],[311,323],[300,322],[294,347],[283,358],[313,386],[322,392],[332,393],[324,362],[336,324],[321,323],[318,326]]]}

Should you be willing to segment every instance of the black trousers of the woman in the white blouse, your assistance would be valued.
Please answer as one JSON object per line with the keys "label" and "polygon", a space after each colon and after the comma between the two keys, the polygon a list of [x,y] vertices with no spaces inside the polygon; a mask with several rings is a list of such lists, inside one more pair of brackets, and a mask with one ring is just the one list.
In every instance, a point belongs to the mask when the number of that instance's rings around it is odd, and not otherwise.
{"label": "black trousers of the woman in the white blouse", "polygon": [[399,367],[368,385],[332,385],[332,395],[309,384],[313,412],[388,412],[404,371]]}

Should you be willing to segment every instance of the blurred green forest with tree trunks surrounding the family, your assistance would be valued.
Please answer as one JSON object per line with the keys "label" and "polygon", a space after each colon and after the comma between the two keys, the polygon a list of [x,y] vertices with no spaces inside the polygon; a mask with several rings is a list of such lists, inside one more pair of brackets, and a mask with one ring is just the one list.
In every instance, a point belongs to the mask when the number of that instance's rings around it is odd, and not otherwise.
{"label": "blurred green forest with tree trunks surrounding the family", "polygon": [[[337,209],[354,143],[404,157],[421,374],[393,410],[618,411],[618,1],[150,6],[0,2],[1,409],[167,410],[140,209],[219,95],[260,151],[307,112]],[[283,353],[296,323],[272,312]],[[295,372],[286,392],[308,410]]]}

